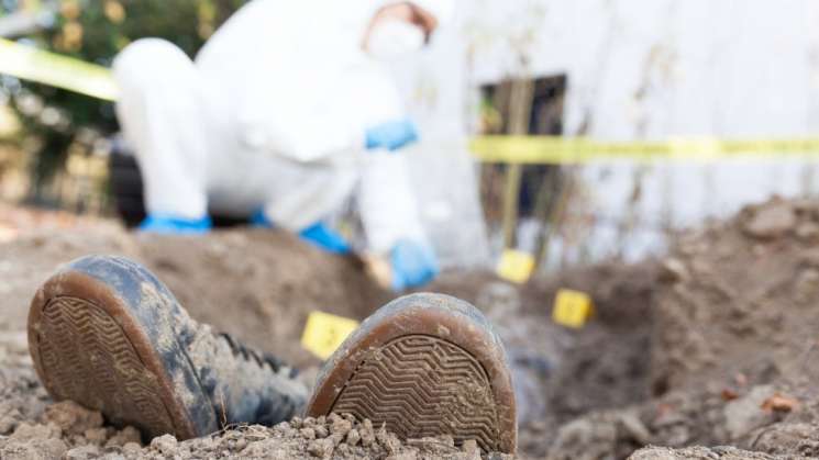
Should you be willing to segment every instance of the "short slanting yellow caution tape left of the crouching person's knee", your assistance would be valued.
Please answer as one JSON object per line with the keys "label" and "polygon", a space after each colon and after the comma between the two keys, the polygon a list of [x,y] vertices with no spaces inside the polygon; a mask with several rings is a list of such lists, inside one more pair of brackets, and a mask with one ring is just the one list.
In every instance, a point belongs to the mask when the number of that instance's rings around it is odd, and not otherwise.
{"label": "short slanting yellow caution tape left of the crouching person's knee", "polygon": [[111,70],[79,59],[0,38],[0,74],[36,81],[106,101],[119,92]]}

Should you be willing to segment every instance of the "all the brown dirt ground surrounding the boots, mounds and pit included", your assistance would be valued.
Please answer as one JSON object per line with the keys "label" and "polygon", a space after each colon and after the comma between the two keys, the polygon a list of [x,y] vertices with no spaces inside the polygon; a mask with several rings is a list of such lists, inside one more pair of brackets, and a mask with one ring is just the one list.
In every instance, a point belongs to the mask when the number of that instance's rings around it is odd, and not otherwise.
{"label": "all the brown dirt ground surrounding the boots, mounds and pit included", "polygon": [[[0,209],[0,228],[11,228],[0,244],[0,458],[476,458],[471,445],[399,440],[340,417],[145,440],[53,404],[31,367],[25,314],[38,283],[75,257],[145,263],[195,318],[308,375],[319,364],[299,345],[310,311],[363,318],[390,294],[361,263],[281,234],[134,236],[106,221],[62,216],[52,225],[15,213],[4,224]],[[587,327],[552,324],[560,288],[595,299]],[[473,302],[503,337],[521,407],[520,458],[819,457],[819,203],[750,207],[687,233],[661,261],[605,263],[522,288],[451,272],[429,290]]]}

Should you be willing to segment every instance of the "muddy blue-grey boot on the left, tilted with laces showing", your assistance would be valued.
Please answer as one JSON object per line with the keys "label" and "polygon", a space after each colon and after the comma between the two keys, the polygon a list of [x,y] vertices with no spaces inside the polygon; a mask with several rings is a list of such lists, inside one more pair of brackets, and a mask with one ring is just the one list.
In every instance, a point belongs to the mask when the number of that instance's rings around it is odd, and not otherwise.
{"label": "muddy blue-grey boot on the left, tilted with laces showing", "polygon": [[79,259],[46,281],[29,313],[29,348],[55,401],[148,439],[273,425],[307,399],[291,369],[197,324],[151,272],[121,258]]}

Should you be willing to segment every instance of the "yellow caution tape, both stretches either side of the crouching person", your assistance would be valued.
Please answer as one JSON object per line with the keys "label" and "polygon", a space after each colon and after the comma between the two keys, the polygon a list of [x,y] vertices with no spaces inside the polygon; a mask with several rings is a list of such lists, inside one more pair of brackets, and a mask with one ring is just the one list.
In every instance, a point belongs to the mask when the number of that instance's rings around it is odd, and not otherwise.
{"label": "yellow caution tape, both stretches either side of the crouching person", "polygon": [[[111,70],[67,56],[0,38],[0,74],[113,101],[119,89]],[[701,160],[748,156],[815,156],[819,137],[721,139],[671,138],[656,142],[600,142],[562,136],[478,136],[471,142],[485,162],[572,165],[595,161]]]}

